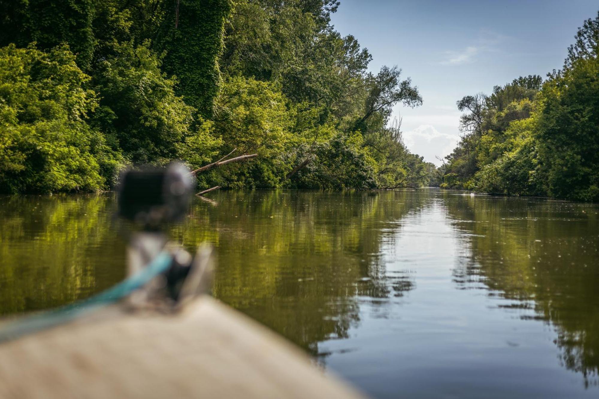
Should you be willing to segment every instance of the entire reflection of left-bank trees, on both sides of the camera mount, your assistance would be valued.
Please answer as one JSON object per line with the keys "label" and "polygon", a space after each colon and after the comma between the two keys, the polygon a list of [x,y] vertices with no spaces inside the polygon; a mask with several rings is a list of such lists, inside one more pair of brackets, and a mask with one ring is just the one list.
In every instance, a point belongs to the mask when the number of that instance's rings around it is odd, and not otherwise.
{"label": "entire reflection of left-bank trees, on both sides of the camera mount", "polygon": [[[215,193],[216,194],[216,193]],[[219,192],[196,201],[170,235],[190,250],[216,246],[213,294],[311,353],[347,337],[357,297],[401,296],[409,275],[387,276],[382,240],[422,199],[405,192]],[[87,297],[124,276],[131,226],[115,219],[116,197],[0,198],[0,315]]]}

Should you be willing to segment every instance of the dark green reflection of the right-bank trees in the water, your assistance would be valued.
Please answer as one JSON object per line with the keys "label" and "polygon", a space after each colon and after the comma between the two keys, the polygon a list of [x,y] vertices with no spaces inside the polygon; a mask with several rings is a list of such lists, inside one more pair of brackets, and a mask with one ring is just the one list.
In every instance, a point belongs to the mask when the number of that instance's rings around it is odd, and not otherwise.
{"label": "dark green reflection of the right-bank trees in the water", "polygon": [[597,385],[596,205],[459,195],[444,201],[470,249],[453,272],[458,288],[489,289],[489,295],[514,301],[503,306],[506,311],[550,323],[562,364],[582,374],[585,385]]}

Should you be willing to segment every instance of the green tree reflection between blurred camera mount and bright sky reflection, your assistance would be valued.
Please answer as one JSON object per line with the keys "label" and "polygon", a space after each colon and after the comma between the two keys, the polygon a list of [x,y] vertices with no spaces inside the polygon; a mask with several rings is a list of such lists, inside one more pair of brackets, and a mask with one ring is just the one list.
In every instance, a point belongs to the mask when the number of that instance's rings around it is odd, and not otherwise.
{"label": "green tree reflection between blurred camera mount and bright sky reflection", "polygon": [[356,298],[413,288],[409,275],[387,276],[380,247],[423,200],[385,194],[222,192],[217,207],[196,204],[175,235],[217,246],[216,297],[316,354],[359,322]]}

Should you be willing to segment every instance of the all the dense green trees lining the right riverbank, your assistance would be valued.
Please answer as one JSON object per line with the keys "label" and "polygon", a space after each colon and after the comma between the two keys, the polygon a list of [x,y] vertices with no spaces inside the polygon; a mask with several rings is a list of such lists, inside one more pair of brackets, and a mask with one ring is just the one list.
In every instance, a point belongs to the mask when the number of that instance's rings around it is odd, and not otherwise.
{"label": "all the dense green trees lining the right riverbank", "polygon": [[446,188],[599,201],[599,13],[564,68],[457,102],[462,140],[441,171]]}

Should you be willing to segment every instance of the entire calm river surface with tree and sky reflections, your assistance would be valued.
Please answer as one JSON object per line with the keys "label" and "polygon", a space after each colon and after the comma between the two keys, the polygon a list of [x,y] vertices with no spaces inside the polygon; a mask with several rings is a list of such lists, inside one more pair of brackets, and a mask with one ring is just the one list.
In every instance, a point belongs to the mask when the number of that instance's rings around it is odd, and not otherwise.
{"label": "entire calm river surface with tree and sky reflections", "polygon": [[[380,398],[599,397],[599,206],[450,191],[222,191],[170,228],[213,295]],[[0,197],[0,316],[124,277],[116,197]]]}

